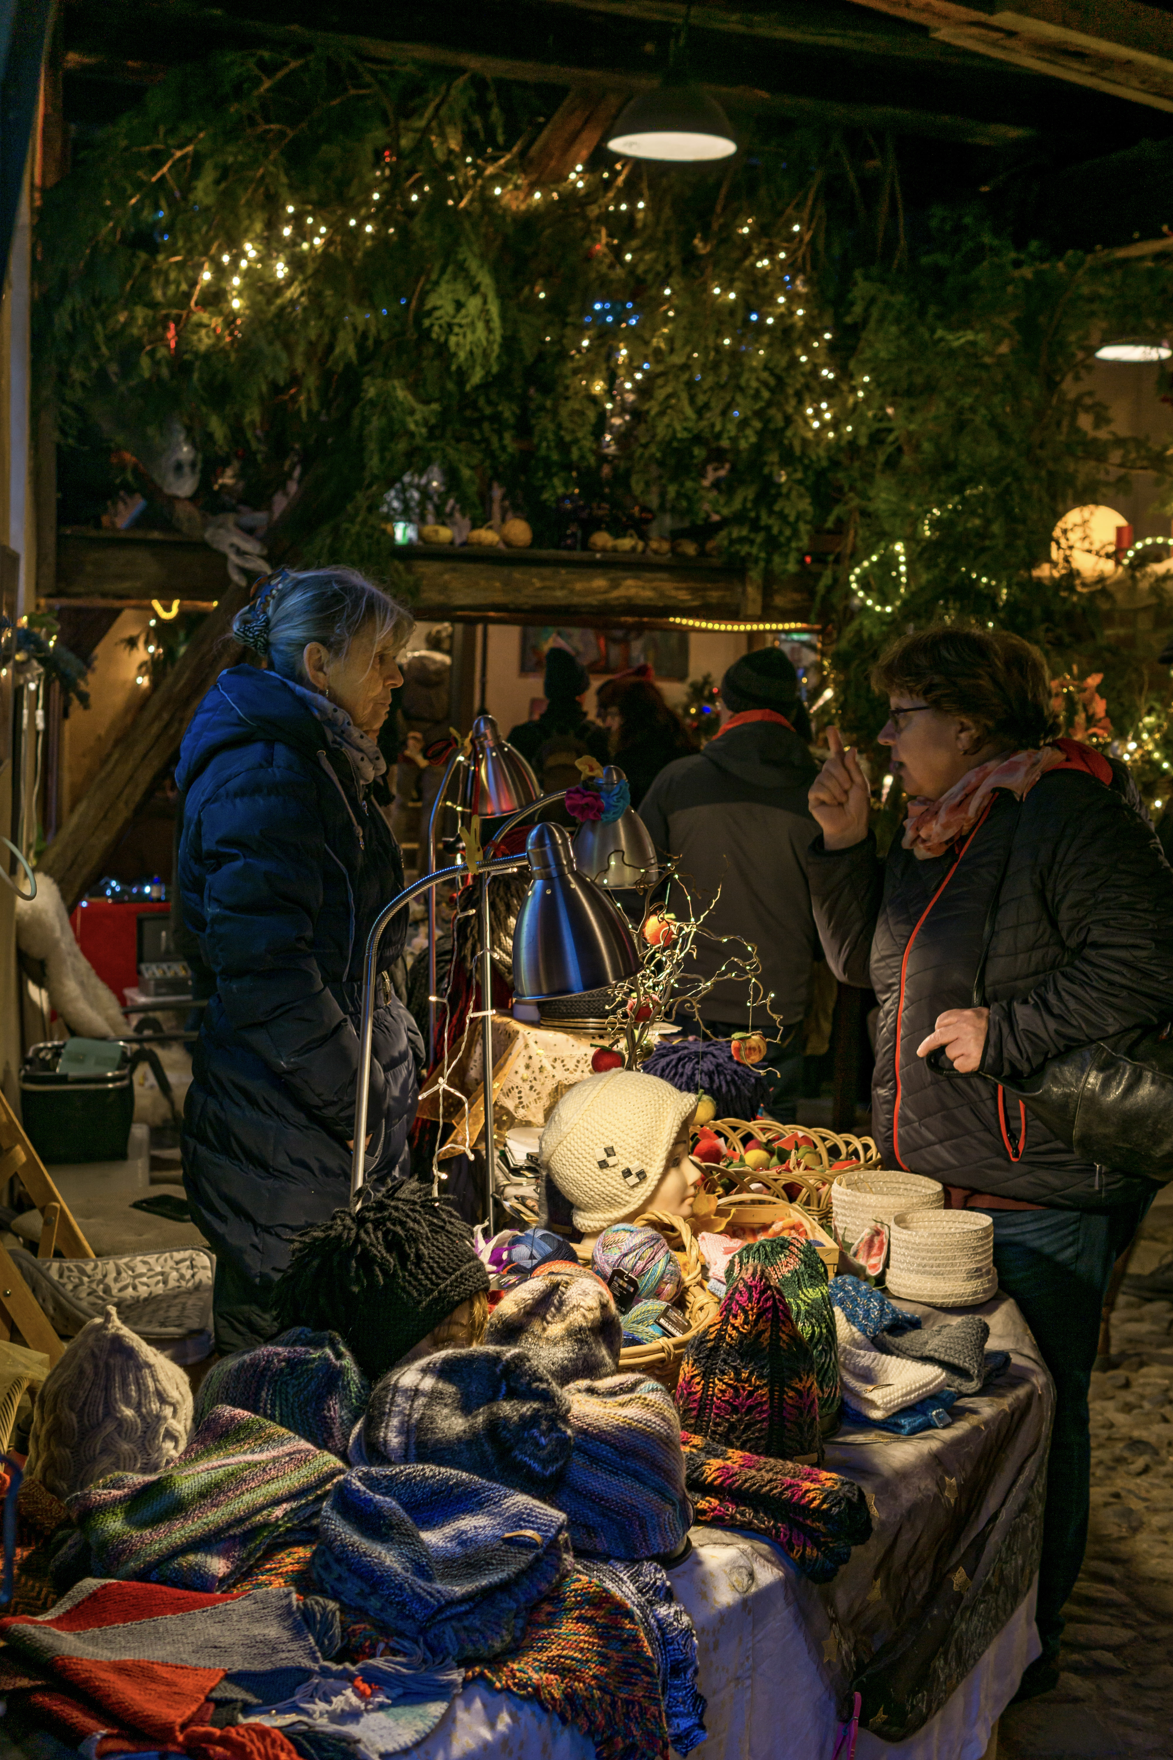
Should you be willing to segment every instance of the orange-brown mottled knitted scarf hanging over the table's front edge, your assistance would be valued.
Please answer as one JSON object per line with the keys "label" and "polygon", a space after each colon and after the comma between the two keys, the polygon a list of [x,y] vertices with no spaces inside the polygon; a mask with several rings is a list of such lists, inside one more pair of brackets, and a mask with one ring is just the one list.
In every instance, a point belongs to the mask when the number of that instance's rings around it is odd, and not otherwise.
{"label": "orange-brown mottled knitted scarf hanging over the table's front edge", "polygon": [[529,1614],[515,1651],[468,1679],[533,1698],[594,1742],[598,1760],[668,1760],[659,1668],[631,1600],[575,1570]]}

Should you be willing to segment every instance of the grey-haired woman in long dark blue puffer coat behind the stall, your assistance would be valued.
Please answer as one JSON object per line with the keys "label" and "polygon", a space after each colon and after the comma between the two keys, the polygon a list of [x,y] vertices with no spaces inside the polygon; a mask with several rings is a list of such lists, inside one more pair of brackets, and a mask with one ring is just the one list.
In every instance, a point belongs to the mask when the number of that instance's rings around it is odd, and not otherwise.
{"label": "grey-haired woman in long dark blue puffer coat behind the stall", "polygon": [[[274,1331],[292,1239],[350,1190],[361,977],[403,859],[369,801],[410,616],[346,568],[285,572],[234,623],[267,671],[222,672],[183,739],[183,915],[215,973],[183,1116],[183,1179],[216,1253],[218,1350]],[[406,1174],[422,1042],[380,943],[368,1179]]]}

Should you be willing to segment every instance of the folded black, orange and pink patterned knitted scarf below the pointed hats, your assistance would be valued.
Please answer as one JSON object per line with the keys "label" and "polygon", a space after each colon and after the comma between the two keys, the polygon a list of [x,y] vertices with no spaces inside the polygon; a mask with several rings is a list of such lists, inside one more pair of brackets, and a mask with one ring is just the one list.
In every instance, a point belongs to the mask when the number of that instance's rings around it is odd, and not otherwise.
{"label": "folded black, orange and pink patterned knitted scarf below the pointed hats", "polygon": [[688,1431],[681,1441],[696,1521],[769,1535],[811,1582],[830,1582],[851,1547],[871,1540],[867,1500],[849,1478],[723,1448]]}

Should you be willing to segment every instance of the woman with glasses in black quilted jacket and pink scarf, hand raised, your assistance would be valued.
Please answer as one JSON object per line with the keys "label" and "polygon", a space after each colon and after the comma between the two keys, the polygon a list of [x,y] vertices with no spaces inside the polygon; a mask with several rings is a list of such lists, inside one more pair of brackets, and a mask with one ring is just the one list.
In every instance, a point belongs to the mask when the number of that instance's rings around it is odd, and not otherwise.
{"label": "woman with glasses in black quilted jacket and pink scarf, hand raised", "polygon": [[[1029,642],[916,632],[886,649],[872,683],[890,699],[879,741],[909,801],[904,836],[881,862],[867,781],[832,729],[811,788],[823,832],[807,859],[811,901],[832,970],[879,998],[872,1126],[885,1165],[992,1216],[999,1283],[1055,1378],[1043,1656],[1025,1698],[1059,1677],[1060,1609],[1087,1542],[1101,1306],[1155,1186],[1127,1165],[1082,1162],[997,1079],[1173,1014],[1173,871],[1126,767],[1053,737],[1046,664]],[[934,1074],[936,1047],[973,1081]]]}

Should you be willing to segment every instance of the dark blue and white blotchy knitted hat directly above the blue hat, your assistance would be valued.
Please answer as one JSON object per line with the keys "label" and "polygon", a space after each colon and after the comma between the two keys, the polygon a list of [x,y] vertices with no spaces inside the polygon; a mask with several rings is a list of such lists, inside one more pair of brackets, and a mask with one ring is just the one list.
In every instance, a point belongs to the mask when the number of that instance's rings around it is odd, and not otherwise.
{"label": "dark blue and white blotchy knitted hat directly above the blue hat", "polygon": [[438,1350],[385,1375],[352,1461],[424,1461],[549,1498],[570,1459],[570,1401],[524,1350]]}

